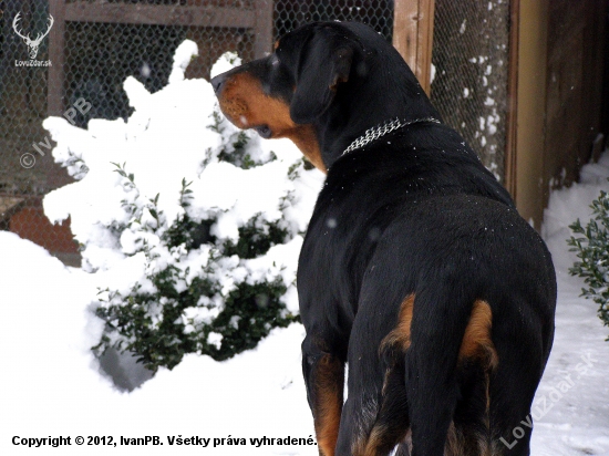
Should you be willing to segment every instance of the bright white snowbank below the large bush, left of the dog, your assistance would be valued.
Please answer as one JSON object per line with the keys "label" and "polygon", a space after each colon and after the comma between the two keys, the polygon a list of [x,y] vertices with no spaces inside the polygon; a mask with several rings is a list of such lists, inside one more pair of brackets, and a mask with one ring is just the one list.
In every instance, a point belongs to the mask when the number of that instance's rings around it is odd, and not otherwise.
{"label": "bright white snowbank below the large bush, left of the dog", "polygon": [[[65,268],[44,249],[0,231],[3,283],[0,454],[27,452],[13,436],[71,436],[59,454],[102,454],[102,446],[74,445],[76,436],[157,435],[164,447],[117,446],[113,454],[167,454],[167,436],[300,437],[312,422],[300,375],[303,329],[275,331],[248,353],[218,363],[186,356],[131,394],[100,372],[89,348],[101,324],[87,310],[91,274]],[[32,286],[32,283],[37,286]],[[213,441],[211,441],[213,445]],[[313,447],[247,447],[247,454],[314,455]],[[218,446],[214,454],[244,454]],[[38,454],[58,454],[41,447]],[[183,447],[180,450],[193,452]],[[200,449],[196,449],[200,450]]]}

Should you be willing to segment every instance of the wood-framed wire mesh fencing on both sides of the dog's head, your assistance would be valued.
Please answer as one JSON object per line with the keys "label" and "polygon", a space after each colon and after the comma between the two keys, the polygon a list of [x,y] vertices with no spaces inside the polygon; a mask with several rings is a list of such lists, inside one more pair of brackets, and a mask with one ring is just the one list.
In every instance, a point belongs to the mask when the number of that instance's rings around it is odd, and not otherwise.
{"label": "wood-framed wire mesh fencing on both sides of the dog's head", "polygon": [[[503,177],[508,0],[435,3],[432,100]],[[393,0],[0,0],[0,228],[76,256],[66,226],[49,225],[40,207],[41,196],[70,182],[53,164],[42,128],[48,115],[86,100],[91,110],[71,117],[79,126],[126,118],[124,80],[163,87],[185,39],[199,46],[186,76],[206,79],[224,52],[249,61],[310,21],[361,21],[391,41],[393,7]],[[33,60],[41,63],[25,65],[32,61],[25,38],[37,37]]]}

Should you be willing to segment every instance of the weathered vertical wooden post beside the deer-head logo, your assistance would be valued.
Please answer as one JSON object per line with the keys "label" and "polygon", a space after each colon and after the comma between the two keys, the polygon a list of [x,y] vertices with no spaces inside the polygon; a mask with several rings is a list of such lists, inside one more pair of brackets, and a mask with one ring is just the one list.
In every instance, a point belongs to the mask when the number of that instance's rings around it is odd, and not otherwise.
{"label": "weathered vertical wooden post beside the deer-head logo", "polygon": [[49,0],[49,13],[55,20],[49,33],[49,89],[47,111],[49,115],[62,115],[64,48],[65,48],[65,0]]}

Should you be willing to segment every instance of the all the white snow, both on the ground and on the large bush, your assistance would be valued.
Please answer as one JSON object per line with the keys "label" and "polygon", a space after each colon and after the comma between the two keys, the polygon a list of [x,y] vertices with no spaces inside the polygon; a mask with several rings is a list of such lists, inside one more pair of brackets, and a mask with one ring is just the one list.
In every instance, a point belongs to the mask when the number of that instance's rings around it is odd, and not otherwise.
{"label": "all the white snow, both on the ground and on the large bush", "polygon": [[[142,195],[154,196],[159,187],[163,188],[162,195],[175,194],[178,190],[176,183],[167,176],[176,176],[185,167],[202,173],[194,184],[200,186],[195,191],[200,198],[195,207],[208,204],[204,199],[213,187],[221,188],[221,193],[216,190],[217,195],[221,194],[220,199],[214,203],[219,205],[218,210],[227,217],[241,217],[239,220],[227,218],[217,225],[216,229],[224,236],[233,236],[235,227],[256,211],[262,211],[267,219],[278,216],[277,208],[259,197],[261,188],[255,183],[260,180],[265,180],[265,188],[275,194],[281,185],[293,185],[290,191],[300,186],[299,203],[287,208],[286,213],[290,214],[296,230],[306,228],[308,208],[319,189],[319,178],[303,176],[299,184],[276,180],[279,179],[277,175],[286,175],[289,159],[254,168],[255,173],[242,173],[221,163],[211,163],[204,170],[198,168],[206,145],[219,142],[219,137],[207,128],[197,127],[195,121],[189,125],[176,121],[178,108],[175,106],[190,106],[188,115],[197,120],[207,115],[206,111],[197,111],[202,108],[199,103],[213,96],[208,83],[183,77],[193,52],[189,44],[180,49],[174,66],[175,81],[153,95],[136,80],[127,80],[125,90],[136,107],[128,123],[122,120],[92,121],[86,132],[62,120],[45,123],[58,141],[54,154],[73,159],[72,172],[86,176],[49,195],[44,201],[47,214],[53,220],[72,215],[72,226],[80,236],[95,239],[86,255],[100,271],[112,269],[112,274],[104,279],[111,289],[122,289],[126,293],[131,283],[141,280],[142,271],[147,267],[142,255],[125,256],[136,251],[137,239],[130,235],[132,231],[124,231],[117,241],[100,228],[105,221],[116,220],[120,216],[116,207],[130,194],[118,174],[112,185],[103,177],[113,173],[114,167],[109,162],[120,160],[125,147],[131,153],[127,167],[140,163],[151,170],[146,176],[136,175]],[[233,63],[227,58],[219,69],[228,69]],[[177,138],[175,141],[179,141],[178,147],[168,142],[166,133],[165,136],[159,133],[153,125],[155,122],[162,124],[165,132],[169,128]],[[195,136],[193,128],[196,128]],[[289,147],[279,144],[260,142],[261,154],[268,154],[272,148],[286,151],[289,156]],[[151,152],[163,147],[173,151],[172,159]],[[223,167],[226,169],[220,173]],[[261,175],[254,177],[256,173]],[[219,177],[233,174],[230,180],[223,182]],[[597,305],[579,297],[582,282],[568,274],[575,256],[565,242],[570,235],[568,225],[577,217],[586,220],[591,200],[601,188],[609,189],[606,176],[609,176],[609,155],[596,165],[587,165],[580,184],[553,191],[545,214],[543,235],[557,268],[559,297],[554,350],[533,407],[534,456],[609,455],[609,343],[605,341],[609,329],[598,319]],[[175,200],[161,199],[159,207],[168,218],[178,217]],[[225,211],[227,209],[233,211]],[[154,220],[144,215],[141,222]],[[148,241],[153,242],[153,239]],[[286,245],[275,246],[264,261],[252,259],[241,265],[240,272],[237,272],[249,280],[265,274],[293,273],[289,271],[296,268],[301,241],[297,236]],[[183,445],[177,447],[177,454],[200,454],[202,450],[214,455],[318,454],[317,446],[310,444],[257,447],[250,442],[250,438],[264,436],[282,439],[289,436],[307,442],[314,435],[301,375],[300,343],[304,331],[300,324],[276,329],[255,350],[225,362],[189,354],[173,371],[159,369],[153,379],[125,393],[104,373],[90,350],[103,331],[102,322],[91,309],[92,297],[99,287],[97,274],[66,268],[43,248],[7,231],[0,231],[0,356],[4,362],[0,377],[0,454],[34,452],[27,446],[13,445],[14,437],[27,443],[22,439],[59,436],[70,436],[72,445],[61,449],[41,446],[35,453],[166,455],[169,438],[175,437],[174,442],[178,442],[178,438],[195,436],[203,443],[207,442],[208,447]],[[168,256],[178,253],[167,252]],[[196,265],[197,261],[207,261],[207,258],[202,251],[192,251],[187,261]],[[269,262],[283,265],[285,269],[269,269]],[[286,280],[291,279],[286,277]],[[290,310],[296,309],[293,288],[289,290],[286,303]],[[194,321],[213,318],[197,309],[188,312],[186,317]],[[220,334],[209,336],[210,342],[221,343]],[[141,375],[133,364],[125,362],[123,369],[132,379]],[[523,416],[524,423],[526,419]],[[514,438],[518,433],[516,428]],[[84,446],[75,445],[76,436],[85,437]],[[117,445],[112,448],[86,445],[89,436],[106,437],[106,442],[112,436]],[[152,443],[125,446],[121,445],[121,436],[157,436],[163,446]],[[220,443],[223,438],[224,444]],[[234,439],[240,443],[241,438],[246,439],[245,448],[228,445]]]}

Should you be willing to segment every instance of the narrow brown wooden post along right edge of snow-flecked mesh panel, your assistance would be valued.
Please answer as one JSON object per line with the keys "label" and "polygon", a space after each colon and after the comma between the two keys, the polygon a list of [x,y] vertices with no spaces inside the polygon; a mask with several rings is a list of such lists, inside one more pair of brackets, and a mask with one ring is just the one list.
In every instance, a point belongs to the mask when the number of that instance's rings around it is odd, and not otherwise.
{"label": "narrow brown wooden post along right edge of snow-flecked mesh panel", "polygon": [[507,79],[507,116],[505,142],[505,187],[516,199],[516,138],[518,126],[518,33],[520,0],[509,2],[509,70]]}

